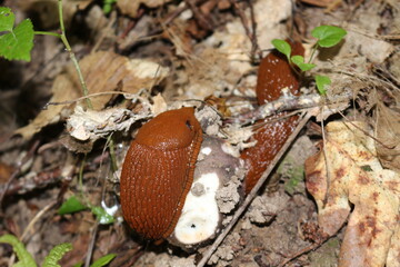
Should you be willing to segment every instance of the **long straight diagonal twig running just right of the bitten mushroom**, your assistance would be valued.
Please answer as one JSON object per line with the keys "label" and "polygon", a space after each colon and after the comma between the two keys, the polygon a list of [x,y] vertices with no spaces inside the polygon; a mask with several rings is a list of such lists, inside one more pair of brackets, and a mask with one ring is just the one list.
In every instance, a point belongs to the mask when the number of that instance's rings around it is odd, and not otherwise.
{"label": "long straight diagonal twig running just right of the bitten mushroom", "polygon": [[217,237],[212,246],[203,254],[202,259],[199,261],[197,267],[203,267],[209,258],[212,256],[214,250],[219,247],[219,245],[223,241],[226,236],[229,234],[229,231],[233,228],[233,226],[237,224],[241,215],[244,212],[247,207],[251,204],[253,198],[256,197],[258,190],[262,187],[262,185],[268,179],[269,175],[271,174],[272,169],[277,165],[277,162],[280,160],[280,158],[283,156],[283,154],[287,151],[289,146],[292,144],[297,135],[300,132],[300,130],[304,127],[307,121],[312,117],[316,116],[318,112],[318,108],[311,109],[306,112],[306,115],[302,116],[302,119],[300,119],[299,125],[296,127],[294,131],[290,135],[283,147],[279,150],[277,156],[273,158],[271,164],[268,166],[267,170],[262,174],[261,178],[258,180],[253,189],[251,189],[250,194],[246,197],[243,204],[239,207],[239,209],[234,212],[232,220],[229,222],[229,225],[221,231],[221,234]]}

